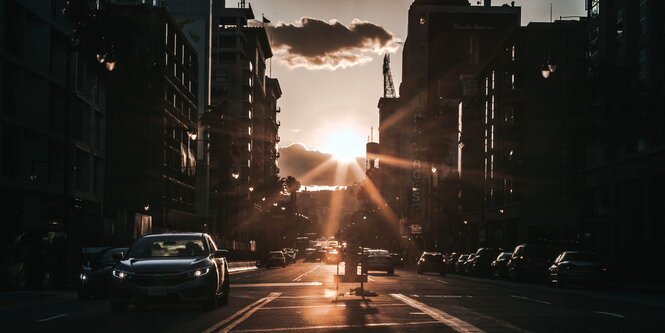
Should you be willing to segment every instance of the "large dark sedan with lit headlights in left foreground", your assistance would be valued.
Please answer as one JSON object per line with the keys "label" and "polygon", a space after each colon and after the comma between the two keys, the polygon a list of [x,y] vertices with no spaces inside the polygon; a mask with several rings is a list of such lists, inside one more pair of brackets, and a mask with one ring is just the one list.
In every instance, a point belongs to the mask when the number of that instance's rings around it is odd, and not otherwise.
{"label": "large dark sedan with lit headlights in left foreground", "polygon": [[111,271],[111,310],[165,301],[210,310],[226,304],[231,291],[227,255],[204,233],[143,236],[127,254],[114,256],[122,261]]}

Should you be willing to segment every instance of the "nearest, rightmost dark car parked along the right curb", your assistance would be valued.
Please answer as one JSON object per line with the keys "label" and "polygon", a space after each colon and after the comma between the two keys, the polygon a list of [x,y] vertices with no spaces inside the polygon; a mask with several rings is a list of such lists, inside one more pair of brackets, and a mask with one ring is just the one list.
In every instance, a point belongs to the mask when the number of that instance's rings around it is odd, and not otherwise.
{"label": "nearest, rightmost dark car parked along the right curb", "polygon": [[564,251],[549,268],[550,283],[563,287],[567,283],[602,286],[607,268],[594,252]]}

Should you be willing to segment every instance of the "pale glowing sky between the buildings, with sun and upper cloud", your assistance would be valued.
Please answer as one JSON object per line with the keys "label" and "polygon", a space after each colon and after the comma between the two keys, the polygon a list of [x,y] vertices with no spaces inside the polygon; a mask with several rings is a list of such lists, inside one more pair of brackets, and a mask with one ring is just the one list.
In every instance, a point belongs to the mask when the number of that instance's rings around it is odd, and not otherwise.
{"label": "pale glowing sky between the buildings, with sun and upper cloud", "polygon": [[[378,141],[377,103],[383,94],[383,54],[391,56],[395,88],[413,0],[248,0],[265,16],[279,79],[280,147],[299,143],[350,159],[363,155],[371,129]],[[501,5],[510,1],[493,1]],[[585,0],[521,0],[522,25],[552,16],[585,15]],[[227,7],[238,1],[226,0]],[[472,1],[475,4],[475,1]],[[282,165],[280,164],[280,167]]]}

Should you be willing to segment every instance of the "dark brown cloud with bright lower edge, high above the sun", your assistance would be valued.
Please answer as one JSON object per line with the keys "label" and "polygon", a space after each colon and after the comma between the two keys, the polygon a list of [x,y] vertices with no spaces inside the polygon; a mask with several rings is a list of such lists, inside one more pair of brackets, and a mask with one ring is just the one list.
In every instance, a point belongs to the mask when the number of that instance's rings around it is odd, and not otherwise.
{"label": "dark brown cloud with bright lower edge, high above the sun", "polygon": [[390,31],[372,22],[354,19],[349,26],[339,21],[303,17],[295,24],[266,26],[276,58],[291,68],[347,68],[372,61],[368,53],[397,51]]}

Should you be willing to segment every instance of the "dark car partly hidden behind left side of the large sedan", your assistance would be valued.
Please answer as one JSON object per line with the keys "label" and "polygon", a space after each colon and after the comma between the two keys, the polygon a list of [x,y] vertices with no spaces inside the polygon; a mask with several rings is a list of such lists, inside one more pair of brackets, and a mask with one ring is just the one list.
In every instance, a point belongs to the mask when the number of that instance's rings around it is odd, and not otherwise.
{"label": "dark car partly hidden behind left side of the large sedan", "polygon": [[116,253],[127,253],[126,247],[95,247],[81,249],[83,264],[79,274],[76,294],[79,299],[107,296],[111,270],[120,261],[113,259]]}

